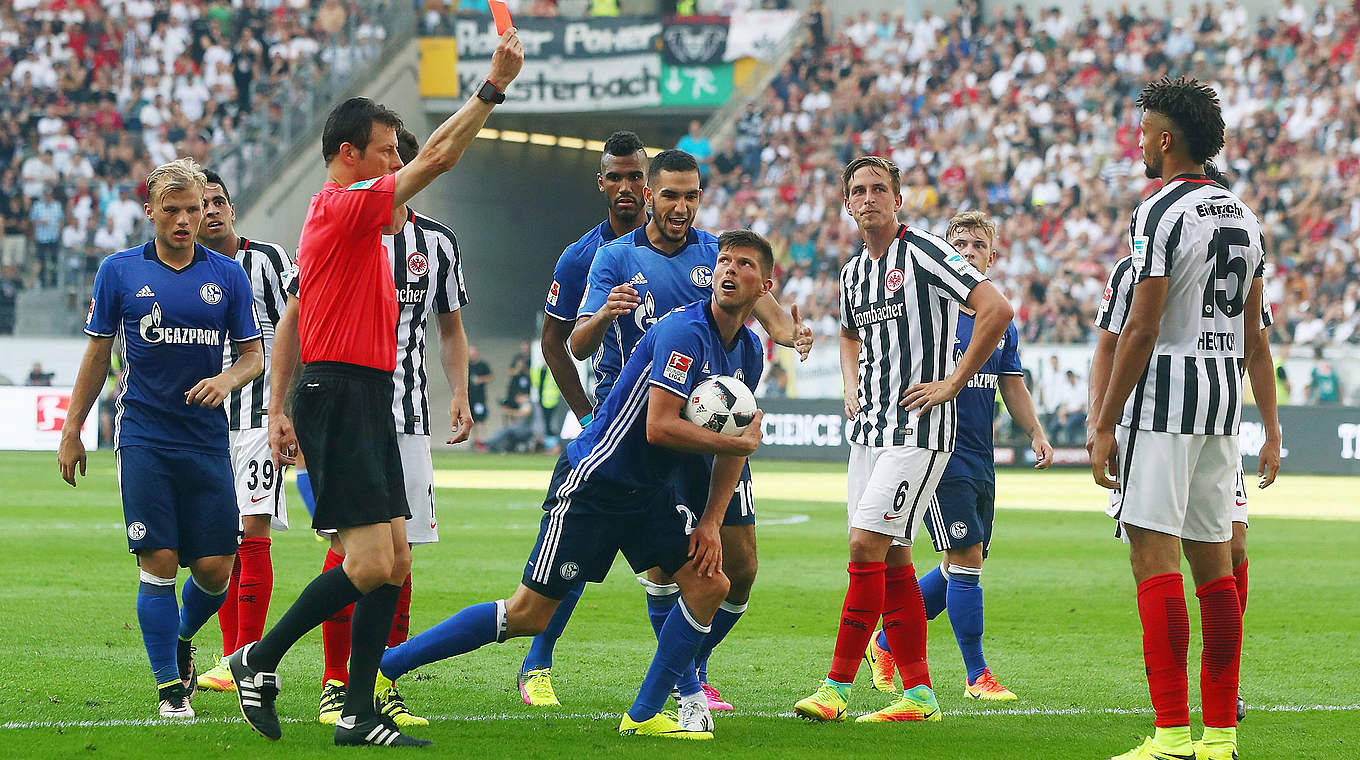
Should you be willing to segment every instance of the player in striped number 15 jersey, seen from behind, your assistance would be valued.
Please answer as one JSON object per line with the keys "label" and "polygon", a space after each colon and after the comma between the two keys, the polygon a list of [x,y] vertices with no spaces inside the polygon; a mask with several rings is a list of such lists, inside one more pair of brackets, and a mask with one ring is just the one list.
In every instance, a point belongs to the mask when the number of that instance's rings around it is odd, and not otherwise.
{"label": "player in striped number 15 jersey, seen from behind", "polygon": [[[1133,300],[1091,436],[1092,476],[1119,489],[1117,519],[1129,534],[1156,712],[1155,736],[1119,759],[1228,760],[1238,756],[1242,657],[1231,551],[1236,434],[1244,363],[1263,351],[1265,253],[1255,213],[1204,175],[1224,141],[1217,94],[1194,79],[1163,77],[1137,105],[1146,174],[1163,186],[1129,226]],[[1198,742],[1190,736],[1182,552],[1204,629]]]}

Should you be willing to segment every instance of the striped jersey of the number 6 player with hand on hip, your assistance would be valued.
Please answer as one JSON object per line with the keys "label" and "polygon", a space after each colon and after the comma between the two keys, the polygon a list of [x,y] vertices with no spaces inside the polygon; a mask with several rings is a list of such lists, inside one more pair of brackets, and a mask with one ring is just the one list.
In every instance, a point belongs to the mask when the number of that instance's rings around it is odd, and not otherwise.
{"label": "striped jersey of the number 6 player with hand on hip", "polygon": [[953,371],[959,305],[987,277],[949,243],[902,226],[887,253],[868,249],[840,269],[840,324],[860,336],[860,413],[850,441],[952,451],[953,401],[923,416],[898,402],[913,385]]}

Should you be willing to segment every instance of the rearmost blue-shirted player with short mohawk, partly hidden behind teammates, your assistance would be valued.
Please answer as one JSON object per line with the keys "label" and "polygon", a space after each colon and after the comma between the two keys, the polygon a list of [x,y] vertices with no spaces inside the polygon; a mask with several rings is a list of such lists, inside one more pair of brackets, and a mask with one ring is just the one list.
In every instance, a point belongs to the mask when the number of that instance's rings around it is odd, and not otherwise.
{"label": "rearmost blue-shirted player with short mohawk, partly hidden behind teammates", "polygon": [[[544,300],[543,360],[548,364],[558,389],[562,390],[562,397],[582,426],[590,423],[594,402],[581,387],[581,377],[577,374],[577,364],[567,348],[567,340],[571,337],[573,328],[577,326],[577,311],[586,295],[586,276],[590,273],[590,262],[594,261],[596,252],[600,250],[600,246],[647,223],[647,215],[642,207],[642,192],[646,184],[647,155],[642,150],[642,140],[632,132],[615,132],[604,143],[600,171],[596,174],[596,185],[604,193],[609,209],[608,218],[562,252],[558,265],[552,271],[552,284],[548,286],[548,295]],[[605,341],[601,351],[609,349],[617,351],[617,347]],[[615,356],[611,363],[617,366],[617,358]],[[566,628],[567,620],[571,619],[571,610],[575,609],[583,589],[585,583],[582,582],[567,591],[567,595],[558,604],[552,621],[533,638],[524,662],[520,663],[520,674],[515,681],[520,687],[520,697],[526,704],[559,704],[558,695],[552,689],[552,651],[558,639],[562,638],[562,631]]]}

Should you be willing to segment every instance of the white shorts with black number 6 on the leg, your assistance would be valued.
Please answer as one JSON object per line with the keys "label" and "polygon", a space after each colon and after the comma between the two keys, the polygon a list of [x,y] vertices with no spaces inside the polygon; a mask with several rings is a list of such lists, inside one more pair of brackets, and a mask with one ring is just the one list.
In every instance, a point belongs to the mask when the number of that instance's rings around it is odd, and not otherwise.
{"label": "white shorts with black number 6 on the leg", "polygon": [[895,544],[910,547],[947,464],[949,451],[851,442],[846,477],[850,528],[892,536]]}

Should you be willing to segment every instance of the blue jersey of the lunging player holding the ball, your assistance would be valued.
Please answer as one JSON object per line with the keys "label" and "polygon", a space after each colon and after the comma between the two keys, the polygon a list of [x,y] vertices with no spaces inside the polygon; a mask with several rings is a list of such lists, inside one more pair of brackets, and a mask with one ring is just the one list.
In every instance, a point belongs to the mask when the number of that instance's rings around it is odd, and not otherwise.
{"label": "blue jersey of the lunging player holding the ball", "polygon": [[658,488],[688,458],[699,457],[647,443],[651,386],[688,398],[706,378],[729,375],[755,390],[764,368],[760,340],[743,326],[733,345],[724,345],[709,310],[707,299],[683,306],[642,336],[594,420],[567,446],[579,477],[623,488]]}

